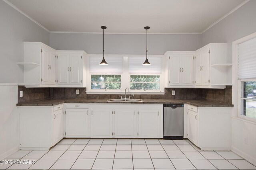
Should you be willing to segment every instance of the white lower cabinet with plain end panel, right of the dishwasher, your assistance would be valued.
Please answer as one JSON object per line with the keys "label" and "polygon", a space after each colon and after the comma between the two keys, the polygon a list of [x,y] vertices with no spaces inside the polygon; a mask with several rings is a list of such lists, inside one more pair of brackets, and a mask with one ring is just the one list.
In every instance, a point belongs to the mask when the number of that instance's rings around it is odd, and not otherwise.
{"label": "white lower cabinet with plain end panel, right of the dishwasher", "polygon": [[230,149],[232,107],[195,107],[187,104],[187,138],[202,150]]}

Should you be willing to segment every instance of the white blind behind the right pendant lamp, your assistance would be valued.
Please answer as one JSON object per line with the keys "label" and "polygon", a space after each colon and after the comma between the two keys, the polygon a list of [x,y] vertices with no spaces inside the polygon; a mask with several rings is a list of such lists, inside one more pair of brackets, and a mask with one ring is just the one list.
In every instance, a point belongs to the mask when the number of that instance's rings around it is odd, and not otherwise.
{"label": "white blind behind the right pendant lamp", "polygon": [[129,73],[162,73],[162,57],[148,57],[150,66],[143,66],[146,57],[129,57]]}

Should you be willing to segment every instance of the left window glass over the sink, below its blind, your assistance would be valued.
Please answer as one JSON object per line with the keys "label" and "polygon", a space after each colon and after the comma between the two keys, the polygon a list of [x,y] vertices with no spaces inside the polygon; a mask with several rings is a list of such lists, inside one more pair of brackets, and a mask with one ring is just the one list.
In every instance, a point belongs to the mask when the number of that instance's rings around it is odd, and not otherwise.
{"label": "left window glass over the sink, below its blind", "polygon": [[121,75],[91,75],[91,89],[120,90]]}

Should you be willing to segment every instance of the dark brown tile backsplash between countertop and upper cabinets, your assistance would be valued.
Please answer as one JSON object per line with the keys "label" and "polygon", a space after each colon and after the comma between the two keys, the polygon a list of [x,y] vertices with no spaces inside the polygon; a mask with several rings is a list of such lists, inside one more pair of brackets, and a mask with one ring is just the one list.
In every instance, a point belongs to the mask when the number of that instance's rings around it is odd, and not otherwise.
{"label": "dark brown tile backsplash between countertop and upper cabinets", "polygon": [[[80,94],[76,94],[79,89]],[[172,95],[175,90],[175,96]],[[23,97],[20,96],[23,91]],[[232,86],[225,89],[203,89],[203,88],[165,88],[164,95],[141,94],[134,98],[141,99],[178,99],[178,100],[208,100],[232,104]],[[18,103],[33,102],[45,99],[75,99],[75,98],[124,98],[124,94],[86,94],[86,88],[25,88],[18,86]]]}

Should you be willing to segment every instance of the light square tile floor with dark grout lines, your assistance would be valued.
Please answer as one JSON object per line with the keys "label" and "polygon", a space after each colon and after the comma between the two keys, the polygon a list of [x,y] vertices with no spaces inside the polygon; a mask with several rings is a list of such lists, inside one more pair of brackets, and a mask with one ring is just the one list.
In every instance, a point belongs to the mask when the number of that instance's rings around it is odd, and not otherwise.
{"label": "light square tile floor with dark grout lines", "polygon": [[256,170],[232,151],[203,151],[188,140],[63,139],[51,150],[19,150],[0,169],[232,169]]}

